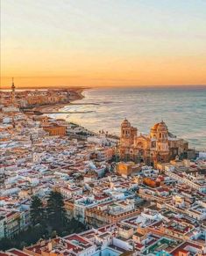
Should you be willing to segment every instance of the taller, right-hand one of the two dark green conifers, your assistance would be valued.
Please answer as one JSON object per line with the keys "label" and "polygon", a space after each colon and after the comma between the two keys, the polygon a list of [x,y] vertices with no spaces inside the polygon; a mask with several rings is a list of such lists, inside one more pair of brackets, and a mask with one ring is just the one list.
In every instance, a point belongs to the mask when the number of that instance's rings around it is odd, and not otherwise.
{"label": "taller, right-hand one of the two dark green conifers", "polygon": [[47,201],[47,218],[54,230],[62,231],[67,223],[63,197],[59,192],[51,192]]}

